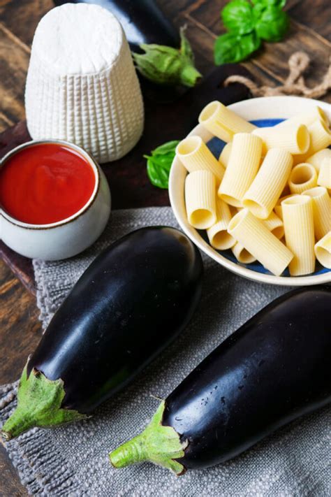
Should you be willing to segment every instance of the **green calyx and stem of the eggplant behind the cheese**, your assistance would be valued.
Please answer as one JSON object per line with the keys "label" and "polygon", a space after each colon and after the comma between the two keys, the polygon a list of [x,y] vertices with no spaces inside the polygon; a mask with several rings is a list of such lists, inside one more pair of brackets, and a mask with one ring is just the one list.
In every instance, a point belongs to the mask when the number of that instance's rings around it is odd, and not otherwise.
{"label": "green calyx and stem of the eggplant behind the cheese", "polygon": [[179,50],[165,45],[140,45],[145,54],[133,53],[137,70],[145,78],[159,85],[184,85],[193,87],[201,78],[194,66],[191,45],[185,36],[185,27],[180,29]]}

